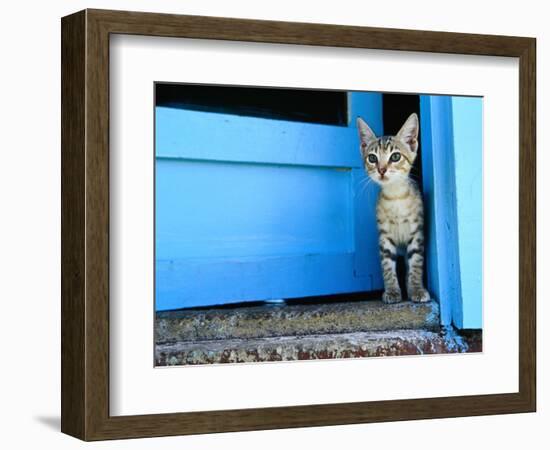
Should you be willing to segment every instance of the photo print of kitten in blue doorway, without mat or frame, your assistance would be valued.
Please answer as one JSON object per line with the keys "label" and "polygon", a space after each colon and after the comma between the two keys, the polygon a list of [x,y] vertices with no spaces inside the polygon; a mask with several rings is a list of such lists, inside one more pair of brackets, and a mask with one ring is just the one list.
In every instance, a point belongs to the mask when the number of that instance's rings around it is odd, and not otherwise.
{"label": "photo print of kitten in blue doorway, without mat or frame", "polygon": [[481,97],[155,84],[155,365],[482,351]]}

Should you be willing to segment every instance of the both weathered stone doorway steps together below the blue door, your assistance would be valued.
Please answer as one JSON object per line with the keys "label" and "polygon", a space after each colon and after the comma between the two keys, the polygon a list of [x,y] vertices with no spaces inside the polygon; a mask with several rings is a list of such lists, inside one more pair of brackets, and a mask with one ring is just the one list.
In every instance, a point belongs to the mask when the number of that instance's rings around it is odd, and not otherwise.
{"label": "both weathered stone doorway steps together below the blue door", "polygon": [[379,301],[157,313],[157,366],[481,351],[441,330],[436,302]]}

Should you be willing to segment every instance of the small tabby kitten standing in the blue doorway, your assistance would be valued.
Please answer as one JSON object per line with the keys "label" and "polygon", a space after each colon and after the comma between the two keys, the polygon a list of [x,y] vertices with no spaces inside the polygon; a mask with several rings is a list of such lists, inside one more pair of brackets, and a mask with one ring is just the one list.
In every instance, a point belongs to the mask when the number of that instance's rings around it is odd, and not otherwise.
{"label": "small tabby kitten standing in the blue doorway", "polygon": [[376,205],[385,303],[401,301],[396,259],[405,254],[407,294],[413,302],[427,302],[422,283],[424,211],[422,195],[409,172],[418,150],[418,116],[411,114],[395,136],[376,137],[360,117],[357,129],[361,155],[369,177],[380,185]]}

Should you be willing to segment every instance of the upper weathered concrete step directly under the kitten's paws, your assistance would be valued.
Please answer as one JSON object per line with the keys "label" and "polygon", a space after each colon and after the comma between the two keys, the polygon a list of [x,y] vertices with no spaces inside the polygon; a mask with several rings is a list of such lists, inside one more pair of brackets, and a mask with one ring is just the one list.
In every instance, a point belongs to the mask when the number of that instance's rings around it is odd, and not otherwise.
{"label": "upper weathered concrete step directly under the kitten's paws", "polygon": [[276,336],[439,329],[436,302],[353,301],[158,312],[157,344]]}

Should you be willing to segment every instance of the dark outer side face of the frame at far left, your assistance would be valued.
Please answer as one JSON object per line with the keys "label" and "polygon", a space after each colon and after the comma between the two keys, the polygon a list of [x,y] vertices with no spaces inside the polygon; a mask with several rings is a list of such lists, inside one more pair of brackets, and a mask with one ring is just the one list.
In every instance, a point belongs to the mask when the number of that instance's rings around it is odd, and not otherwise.
{"label": "dark outer side face of the frame at far left", "polygon": [[61,431],[85,437],[85,13],[61,26]]}

